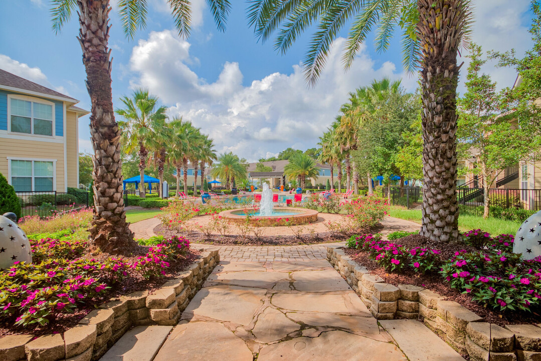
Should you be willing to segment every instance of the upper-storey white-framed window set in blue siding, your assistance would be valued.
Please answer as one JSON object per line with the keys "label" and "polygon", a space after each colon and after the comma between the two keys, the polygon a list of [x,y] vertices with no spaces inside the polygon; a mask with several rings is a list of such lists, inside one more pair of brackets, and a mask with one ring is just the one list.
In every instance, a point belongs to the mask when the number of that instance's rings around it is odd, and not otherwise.
{"label": "upper-storey white-framed window set in blue siding", "polygon": [[52,136],[52,104],[10,99],[11,132]]}

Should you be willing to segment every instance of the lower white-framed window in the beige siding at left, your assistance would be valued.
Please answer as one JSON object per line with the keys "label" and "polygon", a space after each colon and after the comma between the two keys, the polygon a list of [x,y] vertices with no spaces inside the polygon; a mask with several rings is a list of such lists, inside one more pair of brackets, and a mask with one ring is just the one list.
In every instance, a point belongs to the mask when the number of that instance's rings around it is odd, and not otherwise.
{"label": "lower white-framed window in the beige siding at left", "polygon": [[11,185],[15,192],[53,191],[54,162],[11,160]]}

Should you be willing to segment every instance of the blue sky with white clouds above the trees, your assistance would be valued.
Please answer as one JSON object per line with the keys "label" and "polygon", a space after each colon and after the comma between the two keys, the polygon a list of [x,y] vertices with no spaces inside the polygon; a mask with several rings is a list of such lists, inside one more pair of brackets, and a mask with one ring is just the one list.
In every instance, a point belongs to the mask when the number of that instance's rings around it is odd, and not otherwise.
{"label": "blue sky with white clouds above the trees", "polygon": [[[148,88],[168,107],[170,116],[192,120],[210,134],[218,152],[231,150],[253,161],[290,146],[314,147],[349,91],[382,76],[403,78],[410,90],[417,82],[416,76],[404,74],[398,37],[383,54],[374,50],[370,37],[347,73],[340,63],[344,40],[339,38],[320,81],[308,88],[301,65],[308,35],[282,56],[272,41],[256,41],[247,25],[244,2],[233,1],[227,30],[222,33],[216,30],[204,0],[194,0],[192,36],[181,39],[166,0],[148,2],[147,28],[128,41],[116,0],[111,1],[115,107],[120,106],[119,97],[130,95],[136,87]],[[485,50],[514,47],[519,54],[531,47],[529,1],[474,3],[473,41]],[[0,2],[0,68],[74,97],[80,100],[78,106],[90,109],[81,48],[75,38],[77,18],[56,35],[49,10],[47,0]],[[516,77],[512,69],[497,69],[493,64],[485,71],[500,87],[511,86]],[[88,122],[88,116],[79,122],[81,151],[91,150]]]}

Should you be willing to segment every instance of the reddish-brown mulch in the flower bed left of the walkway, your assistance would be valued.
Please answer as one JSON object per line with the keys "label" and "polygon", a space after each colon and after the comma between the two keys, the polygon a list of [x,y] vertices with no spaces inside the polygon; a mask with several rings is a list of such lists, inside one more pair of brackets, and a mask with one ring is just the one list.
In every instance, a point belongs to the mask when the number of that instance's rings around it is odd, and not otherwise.
{"label": "reddish-brown mulch in the flower bed left of the walkway", "polygon": [[[132,250],[130,256],[122,256],[127,262],[135,262],[138,255],[144,255],[148,252],[148,246],[140,246]],[[176,262],[170,262],[170,267],[164,269],[166,274],[161,278],[144,279],[139,274],[131,274],[131,277],[125,278],[122,283],[108,288],[102,297],[91,299],[87,305],[81,306],[76,309],[74,313],[61,313],[58,314],[56,320],[51,321],[49,324],[41,327],[31,329],[32,326],[27,328],[16,327],[13,325],[6,326],[0,325],[0,338],[7,336],[8,334],[33,334],[34,336],[41,336],[43,334],[51,333],[63,333],[77,325],[78,321],[87,316],[88,313],[95,310],[101,304],[107,302],[109,299],[123,296],[135,291],[148,290],[150,292],[160,288],[167,280],[175,278],[179,272],[187,269],[192,262],[199,257],[201,252],[190,248],[186,258],[180,259]],[[94,259],[96,261],[105,260],[109,257],[118,257],[118,255],[110,255],[107,253],[100,253],[96,255],[87,254],[83,258]]]}

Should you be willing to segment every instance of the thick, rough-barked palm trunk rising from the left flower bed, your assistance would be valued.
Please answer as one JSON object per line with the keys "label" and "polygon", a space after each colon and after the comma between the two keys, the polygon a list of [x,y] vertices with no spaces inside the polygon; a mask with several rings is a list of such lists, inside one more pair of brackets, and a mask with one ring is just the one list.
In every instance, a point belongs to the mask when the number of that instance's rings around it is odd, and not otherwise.
{"label": "thick, rough-barked palm trunk rising from the left flower bed", "polygon": [[78,1],[79,37],[87,90],[92,103],[90,140],[94,148],[94,216],[90,241],[103,252],[121,253],[136,246],[126,222],[122,197],[120,129],[115,121],[111,93],[109,0]]}

